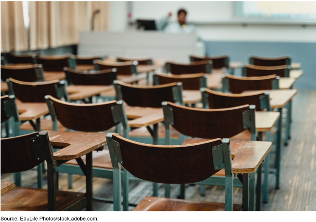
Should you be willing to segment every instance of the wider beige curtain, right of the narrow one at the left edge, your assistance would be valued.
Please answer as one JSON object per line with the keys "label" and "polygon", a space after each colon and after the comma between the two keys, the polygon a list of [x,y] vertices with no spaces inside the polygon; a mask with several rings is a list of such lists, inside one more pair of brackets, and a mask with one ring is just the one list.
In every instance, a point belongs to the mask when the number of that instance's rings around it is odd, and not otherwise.
{"label": "wider beige curtain, right of the narrow one at the left edge", "polygon": [[108,30],[107,1],[30,1],[30,49],[77,44],[80,31]]}

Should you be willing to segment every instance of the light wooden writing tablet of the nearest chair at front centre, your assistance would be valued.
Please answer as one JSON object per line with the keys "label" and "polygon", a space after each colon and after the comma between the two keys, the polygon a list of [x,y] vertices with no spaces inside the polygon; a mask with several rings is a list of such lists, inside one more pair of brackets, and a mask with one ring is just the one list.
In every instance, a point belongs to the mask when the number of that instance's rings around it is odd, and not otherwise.
{"label": "light wooden writing tablet of the nearest chair at front centre", "polygon": [[[207,139],[186,139],[182,145],[205,142]],[[269,153],[272,142],[230,140],[233,173],[255,172]]]}

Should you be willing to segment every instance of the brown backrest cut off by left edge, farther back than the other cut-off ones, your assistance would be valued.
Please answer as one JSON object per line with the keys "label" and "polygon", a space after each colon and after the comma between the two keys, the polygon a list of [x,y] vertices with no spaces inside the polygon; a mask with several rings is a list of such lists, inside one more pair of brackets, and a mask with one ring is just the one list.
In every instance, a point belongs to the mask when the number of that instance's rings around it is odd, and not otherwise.
{"label": "brown backrest cut off by left edge, farther back than the other cut-off ones", "polygon": [[8,78],[25,82],[45,81],[44,70],[41,64],[27,66],[1,65],[1,80],[6,81]]}

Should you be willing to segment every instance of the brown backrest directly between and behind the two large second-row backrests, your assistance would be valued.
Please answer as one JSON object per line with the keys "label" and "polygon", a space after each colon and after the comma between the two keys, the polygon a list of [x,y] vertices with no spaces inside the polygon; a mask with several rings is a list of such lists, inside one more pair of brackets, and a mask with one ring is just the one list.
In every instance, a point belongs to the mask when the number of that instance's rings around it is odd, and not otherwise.
{"label": "brown backrest directly between and behind the two large second-row backrests", "polygon": [[159,108],[163,101],[183,103],[182,83],[142,86],[115,80],[113,84],[116,100],[123,100],[130,106]]}

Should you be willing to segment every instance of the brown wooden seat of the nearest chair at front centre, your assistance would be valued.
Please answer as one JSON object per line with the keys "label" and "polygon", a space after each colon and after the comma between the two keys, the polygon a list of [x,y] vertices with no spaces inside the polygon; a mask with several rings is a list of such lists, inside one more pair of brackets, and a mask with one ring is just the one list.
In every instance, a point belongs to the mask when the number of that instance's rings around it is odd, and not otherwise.
{"label": "brown wooden seat of the nearest chair at front centre", "polygon": [[[233,211],[242,205],[233,204]],[[225,203],[179,200],[160,197],[144,197],[134,211],[225,211]]]}

